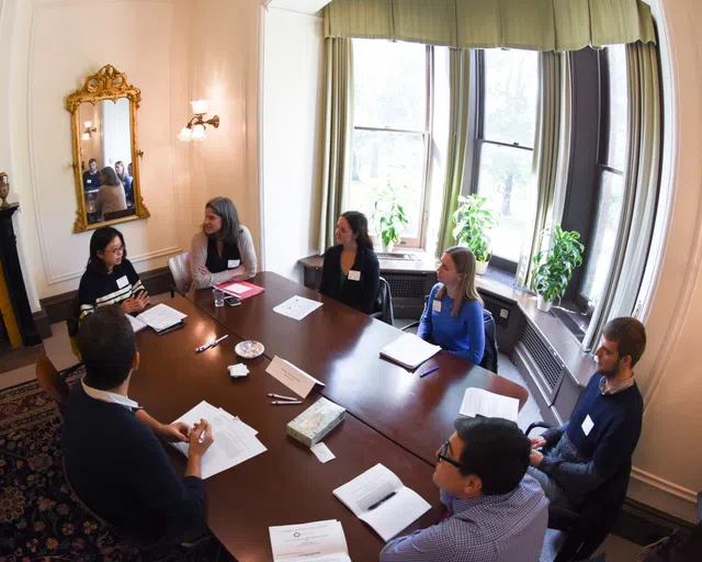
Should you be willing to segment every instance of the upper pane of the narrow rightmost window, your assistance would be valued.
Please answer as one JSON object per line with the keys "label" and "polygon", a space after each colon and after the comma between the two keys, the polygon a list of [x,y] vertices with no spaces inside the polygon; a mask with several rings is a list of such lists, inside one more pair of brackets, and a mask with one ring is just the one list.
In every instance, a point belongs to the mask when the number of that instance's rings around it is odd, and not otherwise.
{"label": "upper pane of the narrow rightmost window", "polygon": [[629,126],[629,90],[626,82],[626,50],[624,45],[607,47],[609,66],[610,130],[607,164],[624,171],[626,166],[626,131]]}

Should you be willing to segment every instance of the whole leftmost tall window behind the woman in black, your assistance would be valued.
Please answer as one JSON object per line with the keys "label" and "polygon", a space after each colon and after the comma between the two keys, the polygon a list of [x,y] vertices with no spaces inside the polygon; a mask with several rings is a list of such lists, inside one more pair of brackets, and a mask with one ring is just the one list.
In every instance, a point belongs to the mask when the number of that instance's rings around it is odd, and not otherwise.
{"label": "whole leftmost tall window behind the woman in black", "polygon": [[398,190],[409,225],[408,246],[420,247],[432,134],[433,47],[353,41],[354,130],[350,209],[372,221],[375,190]]}

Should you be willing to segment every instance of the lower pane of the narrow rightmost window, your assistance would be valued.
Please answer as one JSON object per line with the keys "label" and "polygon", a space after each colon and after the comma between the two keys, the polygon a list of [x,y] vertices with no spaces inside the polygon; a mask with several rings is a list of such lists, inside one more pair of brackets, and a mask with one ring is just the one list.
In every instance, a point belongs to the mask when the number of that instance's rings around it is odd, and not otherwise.
{"label": "lower pane of the narrow rightmost window", "polygon": [[600,301],[604,283],[610,274],[610,265],[618,244],[623,200],[624,179],[616,173],[603,170],[595,234],[590,241],[591,247],[586,248],[590,257],[582,284],[582,295],[592,305],[597,305]]}

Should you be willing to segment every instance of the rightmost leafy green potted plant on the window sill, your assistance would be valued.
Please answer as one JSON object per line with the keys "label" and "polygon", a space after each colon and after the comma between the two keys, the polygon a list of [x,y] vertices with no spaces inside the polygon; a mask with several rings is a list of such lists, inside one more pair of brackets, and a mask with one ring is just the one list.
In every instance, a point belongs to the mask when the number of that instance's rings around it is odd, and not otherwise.
{"label": "rightmost leafy green potted plant on the window sill", "polygon": [[[546,227],[541,236],[550,232]],[[553,303],[563,297],[573,270],[582,263],[585,246],[578,241],[579,238],[578,232],[554,225],[548,248],[534,256],[532,288],[539,295],[536,306],[540,311],[548,312]]]}

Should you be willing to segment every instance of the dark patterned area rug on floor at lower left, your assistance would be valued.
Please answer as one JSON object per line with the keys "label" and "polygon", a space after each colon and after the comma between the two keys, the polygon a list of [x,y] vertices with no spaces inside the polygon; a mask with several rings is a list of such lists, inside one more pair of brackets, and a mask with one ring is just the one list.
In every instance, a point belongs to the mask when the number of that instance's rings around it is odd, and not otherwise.
{"label": "dark patterned area rug on floor at lower left", "polygon": [[214,538],[141,553],[103,528],[64,480],[60,428],[58,408],[36,381],[0,391],[0,562],[231,560]]}

